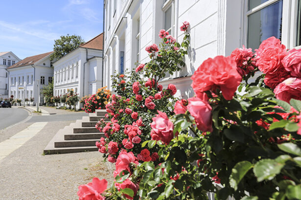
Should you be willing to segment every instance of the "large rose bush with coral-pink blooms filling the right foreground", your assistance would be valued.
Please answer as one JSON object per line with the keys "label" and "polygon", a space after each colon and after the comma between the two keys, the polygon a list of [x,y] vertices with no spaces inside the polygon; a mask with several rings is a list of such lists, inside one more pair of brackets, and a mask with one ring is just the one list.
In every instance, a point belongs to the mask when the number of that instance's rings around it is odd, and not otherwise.
{"label": "large rose bush with coral-pink blooms filling the right foreground", "polygon": [[[160,31],[159,36],[166,38],[166,33]],[[164,44],[173,44],[173,39]],[[157,54],[151,49],[153,59]],[[301,200],[301,62],[276,38],[263,41],[255,51],[243,47],[230,57],[205,60],[192,76],[196,97],[176,101],[174,115],[157,105],[153,110],[147,107],[157,100],[155,76],[146,76],[150,79],[135,87],[118,85],[121,93],[134,88],[135,93],[129,100],[112,98],[106,108],[110,125],[99,124],[104,125],[102,131],[110,130],[106,132],[109,140],[102,139],[99,145],[112,141],[118,123],[127,125],[122,131],[129,140],[145,136],[138,151],[128,153],[116,145],[120,153],[115,181],[105,198],[207,200],[208,192],[214,192],[218,200],[229,196],[236,200]],[[281,73],[283,70],[287,73]],[[262,74],[254,80],[258,71]],[[148,89],[157,90],[150,97],[144,95]],[[161,92],[163,98],[173,93],[172,87]],[[115,109],[116,104],[120,110]],[[125,116],[130,119],[125,108],[145,109],[137,111],[141,121],[120,123],[121,115],[123,120]],[[155,115],[146,121],[142,113]],[[147,126],[151,127],[143,129]]]}

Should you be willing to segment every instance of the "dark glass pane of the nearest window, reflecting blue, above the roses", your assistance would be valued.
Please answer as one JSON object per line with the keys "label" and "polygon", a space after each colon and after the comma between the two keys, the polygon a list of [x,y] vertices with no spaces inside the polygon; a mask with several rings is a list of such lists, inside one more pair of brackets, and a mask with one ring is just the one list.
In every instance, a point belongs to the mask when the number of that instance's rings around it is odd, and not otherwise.
{"label": "dark glass pane of the nearest window, reflecting blue, above the roses", "polygon": [[283,0],[249,0],[247,20],[247,46],[259,47],[262,41],[275,36],[281,40]]}

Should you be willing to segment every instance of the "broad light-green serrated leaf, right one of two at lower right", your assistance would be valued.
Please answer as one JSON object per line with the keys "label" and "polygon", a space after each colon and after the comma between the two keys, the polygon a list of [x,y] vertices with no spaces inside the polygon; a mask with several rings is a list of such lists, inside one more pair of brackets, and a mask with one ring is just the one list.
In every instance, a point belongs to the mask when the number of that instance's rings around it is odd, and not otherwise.
{"label": "broad light-green serrated leaf, right one of two at lower right", "polygon": [[283,163],[276,162],[276,160],[262,159],[254,165],[253,172],[258,182],[272,180],[280,173],[284,165]]}

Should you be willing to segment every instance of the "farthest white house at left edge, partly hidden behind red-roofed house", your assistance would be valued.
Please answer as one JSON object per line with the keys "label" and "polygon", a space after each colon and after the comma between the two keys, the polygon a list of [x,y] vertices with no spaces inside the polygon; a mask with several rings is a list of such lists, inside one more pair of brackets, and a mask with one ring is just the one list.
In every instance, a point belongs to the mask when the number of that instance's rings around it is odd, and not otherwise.
{"label": "farthest white house at left edge, partly hidden behind red-roofed house", "polygon": [[0,52],[0,98],[8,98],[8,71],[7,67],[15,65],[21,61],[18,56],[16,56],[11,51]]}

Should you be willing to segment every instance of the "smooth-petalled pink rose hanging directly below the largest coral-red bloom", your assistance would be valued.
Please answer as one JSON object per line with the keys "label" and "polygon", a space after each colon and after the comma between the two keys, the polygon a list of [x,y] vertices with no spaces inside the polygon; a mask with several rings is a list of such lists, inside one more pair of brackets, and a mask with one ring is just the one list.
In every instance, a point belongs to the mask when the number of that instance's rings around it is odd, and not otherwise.
{"label": "smooth-petalled pink rose hanging directly below the largest coral-red bloom", "polygon": [[188,111],[195,118],[198,129],[204,132],[212,132],[211,106],[198,97],[189,98],[188,102]]}

